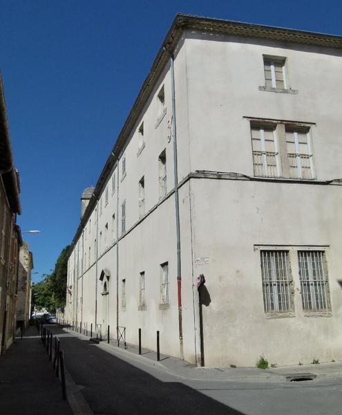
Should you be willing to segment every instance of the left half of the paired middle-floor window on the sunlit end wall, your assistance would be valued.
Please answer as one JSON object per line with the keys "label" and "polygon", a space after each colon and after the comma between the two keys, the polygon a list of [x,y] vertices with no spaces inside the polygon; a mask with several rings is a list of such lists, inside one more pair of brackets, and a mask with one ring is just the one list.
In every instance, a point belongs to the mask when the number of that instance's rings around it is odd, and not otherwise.
{"label": "left half of the paired middle-floor window on the sunlit end wall", "polygon": [[251,125],[254,176],[281,176],[276,126]]}

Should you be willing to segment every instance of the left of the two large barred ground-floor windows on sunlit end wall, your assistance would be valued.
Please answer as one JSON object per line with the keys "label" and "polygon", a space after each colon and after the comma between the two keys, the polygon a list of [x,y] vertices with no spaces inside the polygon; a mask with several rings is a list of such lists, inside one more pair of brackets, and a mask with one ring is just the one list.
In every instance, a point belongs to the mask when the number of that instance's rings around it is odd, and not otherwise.
{"label": "left of the two large barred ground-floor windows on sunlit end wall", "polygon": [[287,251],[261,251],[265,313],[292,311],[292,278]]}

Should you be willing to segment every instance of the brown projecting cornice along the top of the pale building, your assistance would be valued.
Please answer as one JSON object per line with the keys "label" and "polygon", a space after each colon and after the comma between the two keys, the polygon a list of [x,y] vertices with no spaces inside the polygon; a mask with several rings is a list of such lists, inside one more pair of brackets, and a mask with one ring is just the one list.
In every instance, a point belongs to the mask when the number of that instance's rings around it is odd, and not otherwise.
{"label": "brown projecting cornice along the top of the pale building", "polygon": [[248,37],[258,39],[269,39],[276,42],[285,42],[289,44],[303,44],[325,48],[342,49],[342,37],[336,35],[325,35],[322,33],[307,32],[303,30],[293,30],[287,28],[277,28],[274,26],[262,26],[258,24],[248,24],[239,21],[212,19],[208,17],[198,17],[191,15],[176,15],[169,31],[162,42],[162,46],[158,50],[157,55],[153,61],[151,69],[146,76],[129,116],[124,122],[124,126],[120,131],[115,145],[107,158],[104,168],[99,175],[99,180],[95,186],[94,196],[88,203],[84,216],[79,223],[73,244],[70,246],[69,255],[73,250],[73,246],[79,239],[82,229],[93,212],[97,197],[102,192],[102,188],[108,181],[108,176],[111,174],[115,163],[117,163],[120,154],[122,153],[129,135],[137,122],[137,118],[144,109],[144,105],[151,95],[156,82],[158,81],[165,66],[167,66],[170,56],[173,55],[178,46],[178,42],[182,37],[184,30],[192,30],[203,34],[215,33],[218,35],[229,35],[236,37]]}

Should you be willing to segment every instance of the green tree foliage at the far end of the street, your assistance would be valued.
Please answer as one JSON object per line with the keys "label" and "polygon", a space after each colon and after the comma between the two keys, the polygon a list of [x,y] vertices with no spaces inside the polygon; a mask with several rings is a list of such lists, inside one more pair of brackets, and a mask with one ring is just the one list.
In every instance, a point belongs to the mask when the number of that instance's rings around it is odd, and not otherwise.
{"label": "green tree foliage at the far end of the street", "polygon": [[37,308],[46,308],[55,312],[66,304],[66,277],[68,272],[68,249],[60,253],[55,269],[45,279],[33,286],[34,303]]}

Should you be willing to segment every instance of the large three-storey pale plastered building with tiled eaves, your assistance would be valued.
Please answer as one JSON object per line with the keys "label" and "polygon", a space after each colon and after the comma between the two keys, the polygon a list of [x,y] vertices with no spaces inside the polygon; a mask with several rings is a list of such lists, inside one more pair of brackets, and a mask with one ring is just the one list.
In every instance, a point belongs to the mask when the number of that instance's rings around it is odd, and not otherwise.
{"label": "large three-storey pale plastered building with tiled eaves", "polygon": [[68,320],[198,365],[341,360],[341,53],[177,15],[82,201]]}

